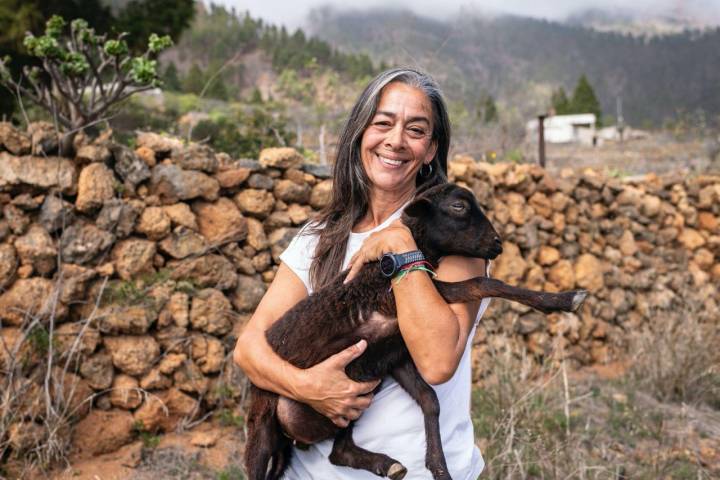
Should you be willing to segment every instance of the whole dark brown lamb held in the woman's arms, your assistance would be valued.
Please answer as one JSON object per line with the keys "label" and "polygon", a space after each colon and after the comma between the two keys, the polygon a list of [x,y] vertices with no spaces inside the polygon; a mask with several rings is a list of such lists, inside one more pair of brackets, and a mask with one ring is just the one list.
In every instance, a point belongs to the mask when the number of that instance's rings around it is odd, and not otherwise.
{"label": "whole dark brown lamb held in the woman's arms", "polygon": [[[500,237],[472,194],[453,184],[419,194],[402,219],[433,265],[445,255],[493,259],[502,252]],[[363,355],[346,367],[348,377],[369,381],[392,375],[425,416],[428,470],[435,479],[450,479],[440,441],[437,396],[418,373],[400,335],[389,280],[381,274],[379,262],[365,265],[349,284],[343,284],[346,273],[290,309],[267,331],[268,343],[291,364],[309,368],[360,339],[367,340]],[[534,292],[486,277],[434,283],[448,303],[500,297],[551,312],[575,310],[585,298],[584,292]],[[279,478],[290,460],[292,440],[310,444],[333,437],[330,461],[335,465],[393,479],[407,473],[387,455],[356,446],[352,424],[341,429],[307,405],[286,398],[279,402],[278,395],[254,386],[247,420],[245,464],[251,480]]]}

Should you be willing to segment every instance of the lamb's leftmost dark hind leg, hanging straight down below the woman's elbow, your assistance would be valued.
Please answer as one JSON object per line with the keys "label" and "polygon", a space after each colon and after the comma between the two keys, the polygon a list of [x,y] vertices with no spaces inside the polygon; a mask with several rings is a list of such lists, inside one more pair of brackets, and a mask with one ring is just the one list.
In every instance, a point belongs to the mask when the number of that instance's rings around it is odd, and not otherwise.
{"label": "lamb's leftmost dark hind leg, hanging straight down below the woman's elbow", "polygon": [[250,394],[245,469],[249,480],[266,480],[270,459],[283,447],[275,413],[278,396],[254,385],[250,386]]}

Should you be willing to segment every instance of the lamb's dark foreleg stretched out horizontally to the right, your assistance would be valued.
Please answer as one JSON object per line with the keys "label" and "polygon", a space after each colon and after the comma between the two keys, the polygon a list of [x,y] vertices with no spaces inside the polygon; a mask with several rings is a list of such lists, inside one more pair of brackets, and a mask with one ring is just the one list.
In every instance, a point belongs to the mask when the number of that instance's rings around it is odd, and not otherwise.
{"label": "lamb's dark foreleg stretched out horizontally to the right", "polygon": [[465,303],[481,298],[495,297],[520,302],[543,313],[574,312],[582,305],[587,291],[538,292],[513,287],[495,278],[475,277],[462,282],[435,280],[435,287],[448,303]]}

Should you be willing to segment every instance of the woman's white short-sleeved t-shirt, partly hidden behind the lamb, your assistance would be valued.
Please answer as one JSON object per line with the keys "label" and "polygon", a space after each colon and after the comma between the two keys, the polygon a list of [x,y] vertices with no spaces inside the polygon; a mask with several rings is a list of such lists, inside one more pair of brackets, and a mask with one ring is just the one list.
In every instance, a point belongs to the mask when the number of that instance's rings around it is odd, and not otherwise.
{"label": "woman's white short-sleeved t-shirt, partly hidden behind the lamb", "polygon": [[[343,262],[347,268],[352,255],[374,231],[381,230],[399,218],[402,208],[385,222],[363,233],[350,233]],[[310,263],[317,245],[317,235],[301,230],[290,242],[280,259],[300,277],[312,293]],[[486,298],[480,304],[475,325],[490,303]],[[441,385],[434,385],[440,401],[440,436],[450,474],[455,480],[475,480],[485,466],[480,450],[475,445],[473,424],[470,418],[470,348],[475,326],[468,337],[465,352],[453,377]],[[425,468],[425,424],[418,404],[392,378],[386,377],[370,407],[355,422],[353,440],[356,445],[371,452],[384,453],[407,468],[406,480],[432,478]],[[285,471],[286,480],[376,480],[370,472],[330,463],[332,440],[311,445],[308,450],[293,449],[292,461]]]}

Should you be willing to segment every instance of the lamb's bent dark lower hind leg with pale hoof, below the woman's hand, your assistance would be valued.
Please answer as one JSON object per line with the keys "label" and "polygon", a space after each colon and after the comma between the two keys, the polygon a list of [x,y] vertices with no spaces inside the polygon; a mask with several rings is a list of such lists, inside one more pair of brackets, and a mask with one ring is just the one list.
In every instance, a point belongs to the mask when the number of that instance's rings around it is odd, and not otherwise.
{"label": "lamb's bent dark lower hind leg with pale hoof, below the woman's hand", "polygon": [[352,439],[352,426],[343,428],[335,436],[330,463],[340,467],[351,467],[367,470],[380,477],[400,480],[407,470],[400,462],[382,453],[374,453],[355,445]]}

